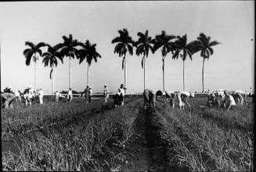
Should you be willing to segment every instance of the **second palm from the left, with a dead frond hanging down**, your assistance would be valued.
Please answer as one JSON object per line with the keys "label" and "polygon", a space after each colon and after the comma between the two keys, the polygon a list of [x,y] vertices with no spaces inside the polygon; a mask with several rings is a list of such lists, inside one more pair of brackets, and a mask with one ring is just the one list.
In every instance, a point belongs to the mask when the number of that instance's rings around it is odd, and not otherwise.
{"label": "second palm from the left, with a dead frond hanging down", "polygon": [[45,66],[50,66],[52,68],[50,72],[50,79],[52,79],[52,95],[54,94],[54,66],[56,67],[58,65],[58,59],[63,63],[63,57],[61,56],[60,52],[58,52],[58,49],[60,48],[59,45],[55,45],[52,47],[51,45],[48,46],[48,51],[42,54],[42,57],[44,59],[42,60],[42,63],[45,64]]}

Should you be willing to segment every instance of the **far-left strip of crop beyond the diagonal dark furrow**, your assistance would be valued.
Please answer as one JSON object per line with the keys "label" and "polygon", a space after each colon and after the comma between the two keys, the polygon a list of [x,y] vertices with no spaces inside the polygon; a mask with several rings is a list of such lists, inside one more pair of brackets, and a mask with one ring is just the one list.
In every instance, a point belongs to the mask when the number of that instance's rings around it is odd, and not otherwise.
{"label": "far-left strip of crop beyond the diagonal dark furrow", "polygon": [[[134,99],[127,99],[125,102]],[[49,102],[43,106],[35,104],[27,108],[3,109],[2,139],[6,139],[5,136],[8,134],[23,134],[46,125],[56,124],[63,120],[72,120],[74,117],[86,116],[87,113],[98,112],[112,107],[112,100],[107,104],[104,104],[102,100],[95,100],[85,104],[85,101],[78,99],[74,102]]]}

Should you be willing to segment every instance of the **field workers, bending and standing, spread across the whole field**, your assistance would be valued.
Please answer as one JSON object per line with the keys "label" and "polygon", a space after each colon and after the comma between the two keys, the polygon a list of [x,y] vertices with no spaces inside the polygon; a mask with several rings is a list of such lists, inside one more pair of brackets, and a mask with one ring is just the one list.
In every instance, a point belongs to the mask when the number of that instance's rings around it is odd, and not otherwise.
{"label": "field workers, bending and standing, spread across the whole field", "polygon": [[[121,84],[120,88],[117,89],[116,94],[112,96],[114,99],[114,106],[117,108],[119,106],[124,105],[124,94],[125,90],[127,88],[124,88],[124,84]],[[35,95],[38,95],[39,97],[39,103],[43,104],[43,96],[44,91],[42,89],[38,89],[37,93],[35,91],[32,91],[32,87],[28,86],[23,93],[20,91],[12,91],[12,88],[9,86],[4,89],[3,92],[1,92],[1,99],[2,99],[2,106],[5,108],[13,107],[12,102],[16,99],[16,102],[20,101],[21,98],[25,100],[26,106],[29,104],[31,105],[31,101],[34,99]],[[59,102],[59,97],[64,97],[59,93],[59,91],[55,92],[56,102]],[[189,106],[191,108],[188,99],[189,97],[194,97],[193,93],[188,91],[164,91],[164,94],[166,99],[170,99],[170,106],[174,109],[175,108],[175,98],[178,100],[178,107],[179,109],[184,109],[185,105]],[[109,98],[108,94],[108,88],[106,87],[106,84],[104,84],[103,88],[103,96],[104,96],[104,102],[107,102],[107,99]],[[144,108],[147,107],[155,107],[156,104],[156,92],[150,89],[145,89],[143,91],[143,98],[144,98]],[[217,107],[220,109],[223,107],[224,109],[231,109],[233,106],[237,105],[243,105],[247,104],[247,93],[242,90],[238,91],[224,91],[223,94],[219,94],[218,92],[208,92],[207,94],[207,105],[208,107]],[[80,97],[85,97],[85,101],[87,103],[92,101],[92,88],[87,85],[85,88],[85,91],[83,91],[80,95]],[[69,88],[67,91],[67,99],[69,102],[73,99],[72,94],[72,88]]]}

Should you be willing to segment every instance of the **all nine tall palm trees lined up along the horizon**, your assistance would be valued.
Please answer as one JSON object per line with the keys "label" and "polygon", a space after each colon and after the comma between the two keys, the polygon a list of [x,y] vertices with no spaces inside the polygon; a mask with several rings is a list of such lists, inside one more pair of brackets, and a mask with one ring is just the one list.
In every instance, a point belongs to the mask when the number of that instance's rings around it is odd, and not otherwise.
{"label": "all nine tall palm trees lined up along the horizon", "polygon": [[[157,34],[155,38],[149,36],[149,31],[146,30],[145,34],[139,32],[137,35],[139,37],[138,41],[133,41],[132,37],[129,36],[128,30],[118,30],[120,34],[117,38],[112,40],[112,44],[117,43],[114,48],[114,53],[117,53],[119,57],[122,57],[122,70],[124,70],[124,87],[127,85],[127,63],[126,55],[127,52],[132,56],[133,48],[136,48],[135,53],[137,56],[142,56],[142,69],[144,69],[144,89],[146,88],[146,58],[149,56],[149,52],[155,53],[158,49],[161,51],[162,59],[162,70],[163,70],[163,91],[164,88],[164,63],[165,57],[167,57],[171,52],[172,59],[178,59],[179,57],[183,62],[183,90],[185,91],[185,60],[187,57],[192,60],[192,56],[196,52],[200,52],[200,56],[203,57],[203,68],[202,68],[202,85],[204,91],[204,62],[205,59],[209,59],[213,55],[214,50],[212,46],[220,44],[218,41],[211,41],[211,37],[207,37],[204,33],[201,33],[197,40],[187,42],[186,34],[182,37],[166,34],[162,30],[161,34]],[[67,38],[63,36],[63,43],[51,46],[45,44],[44,42],[34,45],[30,41],[26,41],[25,45],[29,48],[23,51],[23,55],[26,57],[26,65],[29,66],[31,59],[34,61],[34,90],[36,90],[36,63],[38,61],[38,56],[43,57],[42,63],[45,66],[51,67],[50,78],[52,79],[52,93],[54,92],[54,68],[58,64],[58,59],[63,63],[63,58],[67,57],[70,61],[69,67],[69,86],[71,88],[71,58],[75,57],[79,59],[81,64],[85,59],[88,63],[87,68],[87,84],[89,84],[89,66],[92,64],[92,59],[97,62],[97,58],[101,58],[98,52],[96,52],[96,44],[91,44],[90,41],[85,41],[85,43],[79,42],[73,39],[72,34]],[[48,51],[42,53],[42,47],[48,47]]]}

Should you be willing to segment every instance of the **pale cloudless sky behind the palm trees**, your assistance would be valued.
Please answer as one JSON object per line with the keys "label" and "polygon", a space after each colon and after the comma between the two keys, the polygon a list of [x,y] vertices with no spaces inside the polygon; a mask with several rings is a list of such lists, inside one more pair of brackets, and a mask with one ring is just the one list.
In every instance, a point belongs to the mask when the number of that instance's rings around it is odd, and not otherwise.
{"label": "pale cloudless sky behind the palm trees", "polygon": [[[96,44],[102,56],[92,62],[89,81],[93,92],[117,91],[124,83],[121,58],[114,54],[111,41],[118,30],[127,28],[133,40],[138,32],[154,38],[167,34],[187,34],[196,40],[201,32],[219,41],[214,54],[204,64],[204,90],[219,88],[254,91],[254,1],[127,1],[127,2],[0,2],[1,90],[11,86],[22,90],[34,87],[34,63],[25,65],[25,41],[49,45],[63,42],[63,35]],[[46,49],[44,49],[46,50]],[[135,52],[135,49],[134,49]],[[127,92],[143,91],[142,56],[127,55]],[[42,58],[37,63],[37,88],[50,94],[50,68]],[[186,91],[202,91],[200,53],[185,62]],[[86,85],[87,63],[72,59],[72,88],[82,91]],[[146,59],[146,88],[163,89],[161,52],[150,53]],[[55,70],[55,91],[69,87],[69,61],[64,58]],[[251,89],[250,89],[251,88]],[[165,89],[182,90],[182,59],[165,59]]]}

